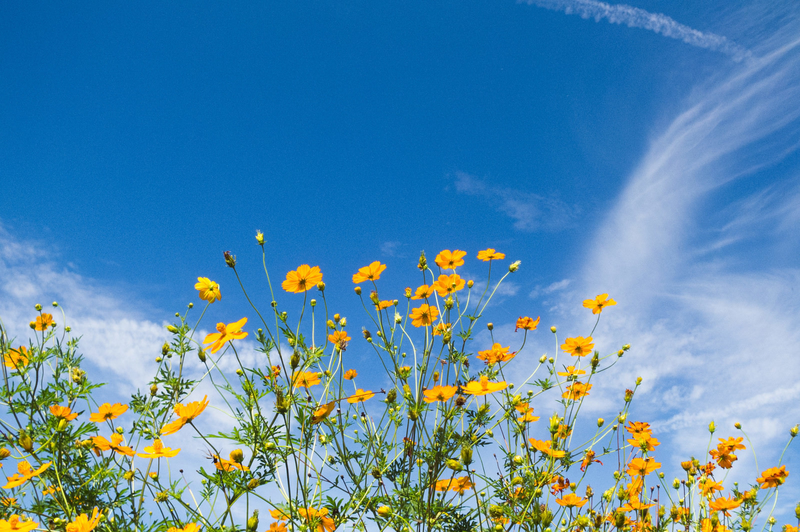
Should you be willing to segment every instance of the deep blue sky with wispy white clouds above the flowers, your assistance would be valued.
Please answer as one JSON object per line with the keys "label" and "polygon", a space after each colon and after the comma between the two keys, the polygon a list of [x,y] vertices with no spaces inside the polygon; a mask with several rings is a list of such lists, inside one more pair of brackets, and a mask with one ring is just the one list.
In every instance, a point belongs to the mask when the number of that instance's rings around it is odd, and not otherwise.
{"label": "deep blue sky with wispy white clouds above the flowers", "polygon": [[492,246],[522,260],[496,323],[584,334],[582,299],[617,299],[610,382],[645,376],[670,459],[712,418],[774,458],[800,422],[800,11],[700,3],[6,4],[0,317],[58,299],[133,389],[108,353],[149,359],[198,275],[208,326],[249,315],[222,251],[262,286],[255,230],[357,326],[358,267],[397,297],[419,250]]}

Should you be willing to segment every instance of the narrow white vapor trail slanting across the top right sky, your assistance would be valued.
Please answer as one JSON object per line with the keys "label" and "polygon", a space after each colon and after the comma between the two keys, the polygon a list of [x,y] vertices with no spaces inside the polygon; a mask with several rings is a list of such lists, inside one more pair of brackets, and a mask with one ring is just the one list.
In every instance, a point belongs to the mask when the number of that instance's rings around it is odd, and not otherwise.
{"label": "narrow white vapor trail slanting across the top right sky", "polygon": [[603,18],[614,24],[626,24],[631,28],[651,30],[665,37],[676,38],[686,44],[716,50],[728,54],[736,61],[750,55],[750,50],[738,46],[722,35],[704,33],[667,17],[665,14],[625,4],[608,4],[597,0],[526,0],[528,5],[544,7],[548,10],[563,11],[566,14],[579,14],[582,18],[594,18],[600,22]]}

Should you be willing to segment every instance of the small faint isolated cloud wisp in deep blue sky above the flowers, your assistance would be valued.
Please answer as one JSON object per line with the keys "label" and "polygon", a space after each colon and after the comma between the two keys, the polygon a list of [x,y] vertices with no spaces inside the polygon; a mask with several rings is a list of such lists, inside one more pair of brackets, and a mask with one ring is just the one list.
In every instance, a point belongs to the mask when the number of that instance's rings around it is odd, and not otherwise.
{"label": "small faint isolated cloud wisp in deep blue sky above the flowers", "polygon": [[455,189],[470,196],[486,198],[495,208],[514,220],[514,228],[523,231],[557,230],[570,222],[564,213],[575,212],[568,209],[565,202],[553,197],[514,190],[489,183],[466,172],[456,172]]}

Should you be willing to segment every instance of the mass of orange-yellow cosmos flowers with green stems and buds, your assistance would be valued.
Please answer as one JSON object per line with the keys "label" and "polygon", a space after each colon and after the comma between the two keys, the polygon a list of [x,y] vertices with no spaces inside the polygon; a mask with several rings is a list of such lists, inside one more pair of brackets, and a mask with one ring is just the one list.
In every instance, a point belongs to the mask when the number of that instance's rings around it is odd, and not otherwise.
{"label": "mass of orange-yellow cosmos flowers with green stems and buds", "polygon": [[[554,355],[537,356],[526,342],[539,334],[538,316],[507,324],[511,342],[495,338],[493,323],[478,334],[498,286],[520,267],[511,262],[497,279],[506,258],[497,250],[442,250],[432,264],[422,253],[419,284],[402,294],[382,287],[393,272],[381,262],[354,269],[366,314],[354,332],[330,311],[318,266],[288,272],[276,293],[261,232],[256,243],[269,310],[251,302],[236,258],[225,252],[252,319],[232,316],[196,337],[206,309],[222,302],[220,284],[198,278],[205,309],[191,324],[193,304],[176,314],[155,377],[129,402],[94,401],[99,385],[81,369],[78,341],[41,306],[27,346],[0,330],[0,460],[15,461],[17,470],[2,486],[0,532],[750,532],[786,482],[789,472],[778,463],[746,490],[722,485],[719,471],[746,448],[742,433],[718,438],[707,462],[682,462],[686,477],[666,483],[653,427],[628,419],[641,379],[625,390],[613,423],[579,423],[595,376],[630,346],[601,352],[594,329],[559,340],[551,327]],[[485,282],[462,278],[459,268],[475,259],[484,263]],[[609,294],[583,302],[597,322],[615,305]],[[240,352],[252,346],[257,362],[245,365]],[[383,377],[353,367],[355,350],[369,353]],[[234,374],[222,370],[231,365]],[[209,407],[226,411],[230,424],[215,422],[208,433]],[[174,448],[188,436],[205,455]],[[206,461],[199,486],[170,470],[179,454]],[[594,478],[614,464],[609,485],[595,491],[590,469]]]}

